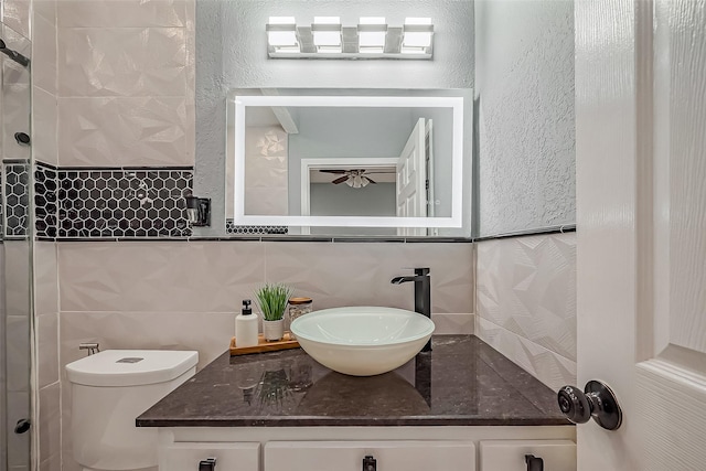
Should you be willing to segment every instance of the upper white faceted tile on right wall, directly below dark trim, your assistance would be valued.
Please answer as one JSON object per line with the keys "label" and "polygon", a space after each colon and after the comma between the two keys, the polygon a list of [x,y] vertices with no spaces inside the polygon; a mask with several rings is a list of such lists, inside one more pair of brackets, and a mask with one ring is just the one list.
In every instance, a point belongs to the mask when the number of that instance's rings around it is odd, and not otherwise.
{"label": "upper white faceted tile on right wall, directly below dark trim", "polygon": [[479,243],[478,313],[576,360],[576,234]]}

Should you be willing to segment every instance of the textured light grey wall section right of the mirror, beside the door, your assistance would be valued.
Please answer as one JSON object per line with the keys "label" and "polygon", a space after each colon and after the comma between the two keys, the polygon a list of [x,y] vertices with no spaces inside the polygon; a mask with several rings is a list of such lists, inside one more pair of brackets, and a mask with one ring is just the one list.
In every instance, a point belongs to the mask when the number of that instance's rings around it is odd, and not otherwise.
{"label": "textured light grey wall section right of the mirror, beside the door", "polygon": [[475,2],[479,235],[576,221],[574,4]]}

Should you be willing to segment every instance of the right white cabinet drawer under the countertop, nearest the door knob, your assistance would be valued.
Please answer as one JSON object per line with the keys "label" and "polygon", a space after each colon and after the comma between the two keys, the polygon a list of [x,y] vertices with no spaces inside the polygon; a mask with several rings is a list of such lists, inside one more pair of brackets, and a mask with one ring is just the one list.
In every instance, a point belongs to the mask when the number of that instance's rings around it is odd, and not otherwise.
{"label": "right white cabinet drawer under the countertop, nearest the door knob", "polygon": [[527,471],[525,454],[542,458],[546,471],[576,471],[576,443],[570,440],[486,440],[479,453],[479,471]]}

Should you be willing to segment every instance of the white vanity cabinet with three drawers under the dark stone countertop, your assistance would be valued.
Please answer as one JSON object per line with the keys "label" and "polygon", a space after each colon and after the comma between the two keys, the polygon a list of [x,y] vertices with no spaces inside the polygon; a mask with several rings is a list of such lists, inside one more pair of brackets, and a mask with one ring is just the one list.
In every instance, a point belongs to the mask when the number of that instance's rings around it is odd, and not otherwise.
{"label": "white vanity cabinet with three drawers under the dark stone countertop", "polygon": [[576,471],[571,426],[163,427],[160,471]]}

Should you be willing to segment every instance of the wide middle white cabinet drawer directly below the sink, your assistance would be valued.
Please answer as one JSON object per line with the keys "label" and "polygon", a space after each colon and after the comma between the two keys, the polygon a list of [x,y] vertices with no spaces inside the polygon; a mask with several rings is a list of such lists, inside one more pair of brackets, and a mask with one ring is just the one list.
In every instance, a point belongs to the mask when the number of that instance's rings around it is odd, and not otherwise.
{"label": "wide middle white cabinet drawer directly below the sink", "polygon": [[361,471],[372,456],[378,471],[474,471],[470,441],[270,441],[265,471]]}

